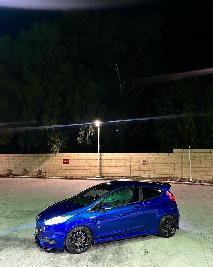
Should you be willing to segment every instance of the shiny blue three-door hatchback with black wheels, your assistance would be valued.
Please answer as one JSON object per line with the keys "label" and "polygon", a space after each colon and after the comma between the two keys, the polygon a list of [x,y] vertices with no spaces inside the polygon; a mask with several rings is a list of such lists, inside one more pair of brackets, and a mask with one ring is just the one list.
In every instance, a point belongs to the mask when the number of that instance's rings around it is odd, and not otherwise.
{"label": "shiny blue three-door hatchback with black wheels", "polygon": [[169,183],[109,181],[65,199],[36,217],[35,240],[45,250],[79,254],[92,244],[159,234],[179,228]]}

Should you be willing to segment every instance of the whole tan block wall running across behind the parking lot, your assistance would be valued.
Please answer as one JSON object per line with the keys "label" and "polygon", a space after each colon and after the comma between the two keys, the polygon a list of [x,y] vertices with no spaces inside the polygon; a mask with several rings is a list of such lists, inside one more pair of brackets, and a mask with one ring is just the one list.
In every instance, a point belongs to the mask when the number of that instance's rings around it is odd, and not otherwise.
{"label": "whole tan block wall running across behind the parking lot", "polygon": [[[65,154],[0,154],[0,173],[30,175],[42,169],[48,176],[97,176],[97,153]],[[63,164],[69,159],[69,164]],[[142,164],[147,159],[147,164]],[[213,180],[213,149],[191,149],[192,179]],[[173,153],[101,153],[100,175],[189,178],[188,149],[174,149]]]}

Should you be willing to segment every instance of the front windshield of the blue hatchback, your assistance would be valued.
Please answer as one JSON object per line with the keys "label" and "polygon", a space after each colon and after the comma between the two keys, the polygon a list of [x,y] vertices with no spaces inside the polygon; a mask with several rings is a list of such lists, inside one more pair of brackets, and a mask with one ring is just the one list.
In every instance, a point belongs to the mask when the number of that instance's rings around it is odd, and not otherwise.
{"label": "front windshield of the blue hatchback", "polygon": [[87,206],[111,190],[112,187],[110,187],[107,183],[102,183],[86,189],[85,191],[71,198],[70,201],[75,205]]}

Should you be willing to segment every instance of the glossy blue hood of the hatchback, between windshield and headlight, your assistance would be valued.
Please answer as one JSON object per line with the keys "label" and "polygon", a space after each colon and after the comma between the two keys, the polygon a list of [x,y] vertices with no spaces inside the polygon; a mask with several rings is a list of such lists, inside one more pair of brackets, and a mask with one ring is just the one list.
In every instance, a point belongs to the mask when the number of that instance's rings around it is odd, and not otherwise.
{"label": "glossy blue hood of the hatchback, between windshield and headlight", "polygon": [[65,199],[49,206],[43,210],[40,215],[46,220],[60,215],[76,214],[86,210],[88,210],[88,206],[74,205],[69,199]]}

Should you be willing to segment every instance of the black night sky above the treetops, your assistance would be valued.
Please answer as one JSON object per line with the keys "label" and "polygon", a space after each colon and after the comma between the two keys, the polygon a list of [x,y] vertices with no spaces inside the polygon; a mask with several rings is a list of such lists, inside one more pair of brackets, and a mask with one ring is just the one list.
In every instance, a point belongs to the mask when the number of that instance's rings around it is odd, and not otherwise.
{"label": "black night sky above the treetops", "polygon": [[[182,72],[212,67],[212,10],[212,1],[164,0],[98,11],[131,15],[158,13],[165,20],[163,42],[168,46],[167,62],[174,72]],[[60,11],[0,8],[0,35],[15,37],[21,29],[28,30],[34,21],[43,18],[54,21],[60,17]]]}

